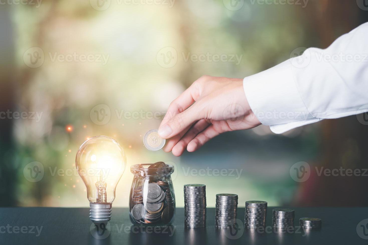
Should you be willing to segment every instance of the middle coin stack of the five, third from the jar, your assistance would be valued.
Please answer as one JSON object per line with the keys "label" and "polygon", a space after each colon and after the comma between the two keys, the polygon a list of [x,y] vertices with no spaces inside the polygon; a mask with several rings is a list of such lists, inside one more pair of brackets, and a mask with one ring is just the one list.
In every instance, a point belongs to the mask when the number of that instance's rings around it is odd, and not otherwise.
{"label": "middle coin stack of the five, third from the jar", "polygon": [[244,226],[247,228],[258,228],[266,226],[267,202],[246,201]]}

